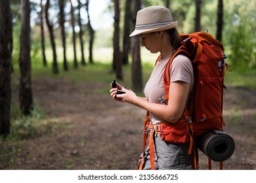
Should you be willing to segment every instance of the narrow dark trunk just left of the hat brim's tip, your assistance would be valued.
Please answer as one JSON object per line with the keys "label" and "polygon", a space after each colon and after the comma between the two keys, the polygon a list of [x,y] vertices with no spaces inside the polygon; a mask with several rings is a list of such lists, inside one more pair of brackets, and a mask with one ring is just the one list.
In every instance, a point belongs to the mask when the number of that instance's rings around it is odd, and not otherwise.
{"label": "narrow dark trunk just left of the hat brim's tip", "polygon": [[124,16],[124,35],[122,42],[122,63],[124,65],[129,63],[129,50],[130,50],[130,19],[131,19],[131,4],[132,0],[127,0],[125,4]]}

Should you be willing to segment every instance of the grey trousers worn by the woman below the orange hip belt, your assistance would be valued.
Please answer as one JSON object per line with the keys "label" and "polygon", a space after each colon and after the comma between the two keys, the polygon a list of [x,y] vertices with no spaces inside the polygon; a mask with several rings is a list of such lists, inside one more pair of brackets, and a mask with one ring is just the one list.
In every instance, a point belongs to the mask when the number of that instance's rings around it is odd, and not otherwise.
{"label": "grey trousers worn by the woman below the orange hip belt", "polygon": [[[186,144],[164,142],[158,135],[155,135],[155,169],[193,170],[194,155],[188,154],[189,144],[190,141]],[[151,169],[149,145],[143,154],[143,169]],[[139,158],[139,163],[143,154]]]}

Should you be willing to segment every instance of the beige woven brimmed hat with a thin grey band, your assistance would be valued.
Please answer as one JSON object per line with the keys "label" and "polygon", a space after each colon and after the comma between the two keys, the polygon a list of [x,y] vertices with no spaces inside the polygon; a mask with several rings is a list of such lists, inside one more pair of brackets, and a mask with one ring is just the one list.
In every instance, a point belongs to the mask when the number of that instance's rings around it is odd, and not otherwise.
{"label": "beige woven brimmed hat with a thin grey band", "polygon": [[177,27],[177,24],[177,21],[172,20],[172,14],[168,8],[146,7],[137,12],[135,30],[130,34],[130,37],[141,33],[172,29]]}

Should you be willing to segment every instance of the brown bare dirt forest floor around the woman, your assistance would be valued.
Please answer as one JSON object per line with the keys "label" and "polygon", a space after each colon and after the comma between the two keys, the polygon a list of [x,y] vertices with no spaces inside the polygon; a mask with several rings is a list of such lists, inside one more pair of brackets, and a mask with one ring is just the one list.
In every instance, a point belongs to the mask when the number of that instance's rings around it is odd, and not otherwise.
{"label": "brown bare dirt forest floor around the woman", "polygon": [[[145,111],[114,101],[108,91],[109,83],[33,78],[34,102],[52,122],[36,137],[0,141],[0,169],[137,169]],[[224,169],[256,169],[255,93],[234,86],[225,92],[224,131],[236,148]],[[18,86],[12,86],[17,95]],[[212,166],[219,169],[217,162]],[[202,152],[199,169],[208,169]]]}

